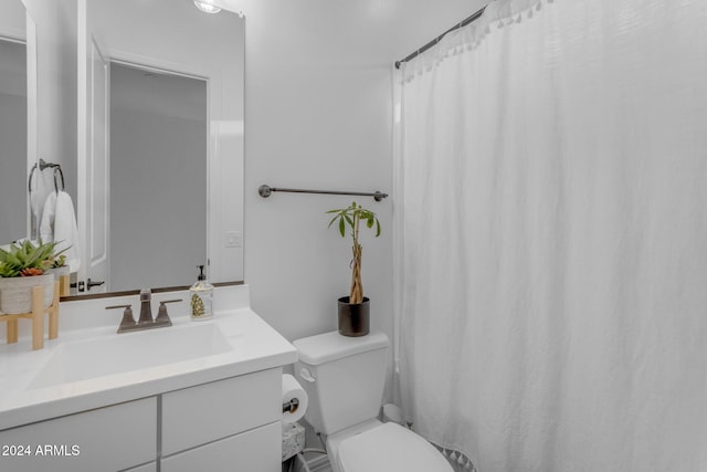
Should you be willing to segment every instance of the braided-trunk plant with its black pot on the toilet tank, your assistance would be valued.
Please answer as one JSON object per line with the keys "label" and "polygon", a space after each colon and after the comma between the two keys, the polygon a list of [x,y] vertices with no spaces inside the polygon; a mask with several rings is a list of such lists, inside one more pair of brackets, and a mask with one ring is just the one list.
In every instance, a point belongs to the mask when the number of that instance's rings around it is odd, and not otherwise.
{"label": "braided-trunk plant with its black pot on the toilet tank", "polygon": [[341,238],[346,237],[346,229],[351,230],[354,245],[351,251],[351,287],[348,296],[342,296],[338,301],[339,308],[339,334],[344,336],[365,336],[370,331],[370,300],[363,296],[363,285],[361,283],[361,255],[363,248],[359,243],[359,230],[361,222],[368,229],[376,228],[376,238],[380,235],[380,222],[370,210],[352,202],[347,208],[329,210],[327,213],[335,213],[329,228],[338,221]]}

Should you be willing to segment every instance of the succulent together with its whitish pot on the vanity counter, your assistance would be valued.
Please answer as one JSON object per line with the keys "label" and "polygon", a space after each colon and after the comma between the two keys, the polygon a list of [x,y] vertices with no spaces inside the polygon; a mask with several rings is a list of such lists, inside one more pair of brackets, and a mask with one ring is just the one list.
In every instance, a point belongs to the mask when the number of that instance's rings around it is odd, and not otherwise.
{"label": "succulent together with its whitish pot on the vanity counter", "polygon": [[[44,286],[44,306],[52,304],[54,274],[45,273],[60,253],[55,242],[34,245],[31,241],[0,249],[0,312],[6,314],[32,311],[32,289]],[[63,251],[62,251],[63,252]]]}

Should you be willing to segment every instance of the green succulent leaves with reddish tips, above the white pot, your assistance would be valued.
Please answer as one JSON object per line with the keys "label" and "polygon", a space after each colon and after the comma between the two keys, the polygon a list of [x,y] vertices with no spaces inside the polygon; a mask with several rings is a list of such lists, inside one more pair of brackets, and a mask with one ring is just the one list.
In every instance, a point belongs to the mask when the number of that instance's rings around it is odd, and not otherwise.
{"label": "green succulent leaves with reddish tips, above the white pot", "polygon": [[[13,243],[8,251],[0,249],[0,277],[20,277],[42,275],[45,270],[61,266],[65,260],[62,253],[55,252],[59,242],[31,241]],[[60,263],[60,265],[56,265]]]}

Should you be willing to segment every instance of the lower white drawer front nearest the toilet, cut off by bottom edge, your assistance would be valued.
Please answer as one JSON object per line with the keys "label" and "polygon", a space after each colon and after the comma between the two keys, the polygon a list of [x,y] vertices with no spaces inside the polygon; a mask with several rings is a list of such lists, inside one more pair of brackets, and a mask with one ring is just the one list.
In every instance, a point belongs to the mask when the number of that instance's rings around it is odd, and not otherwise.
{"label": "lower white drawer front nearest the toilet, cut off by bottom edge", "polygon": [[281,470],[279,422],[162,459],[162,472],[273,472]]}

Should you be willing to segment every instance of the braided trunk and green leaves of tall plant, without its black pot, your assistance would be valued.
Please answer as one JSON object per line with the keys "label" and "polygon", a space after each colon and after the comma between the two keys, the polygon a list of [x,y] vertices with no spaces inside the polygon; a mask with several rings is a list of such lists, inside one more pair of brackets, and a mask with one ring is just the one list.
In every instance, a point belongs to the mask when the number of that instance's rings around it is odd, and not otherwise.
{"label": "braided trunk and green leaves of tall plant, without its black pot", "polygon": [[327,213],[335,213],[331,221],[329,221],[329,228],[338,221],[341,238],[346,238],[347,228],[350,228],[351,230],[351,238],[354,240],[351,250],[354,252],[354,259],[351,260],[351,289],[349,291],[349,303],[361,303],[363,302],[363,284],[361,283],[361,255],[363,248],[359,243],[359,229],[361,221],[363,221],[366,228],[376,228],[376,238],[378,238],[380,235],[380,221],[378,221],[376,213],[365,209],[356,202],[352,202],[347,208],[329,210]]}

